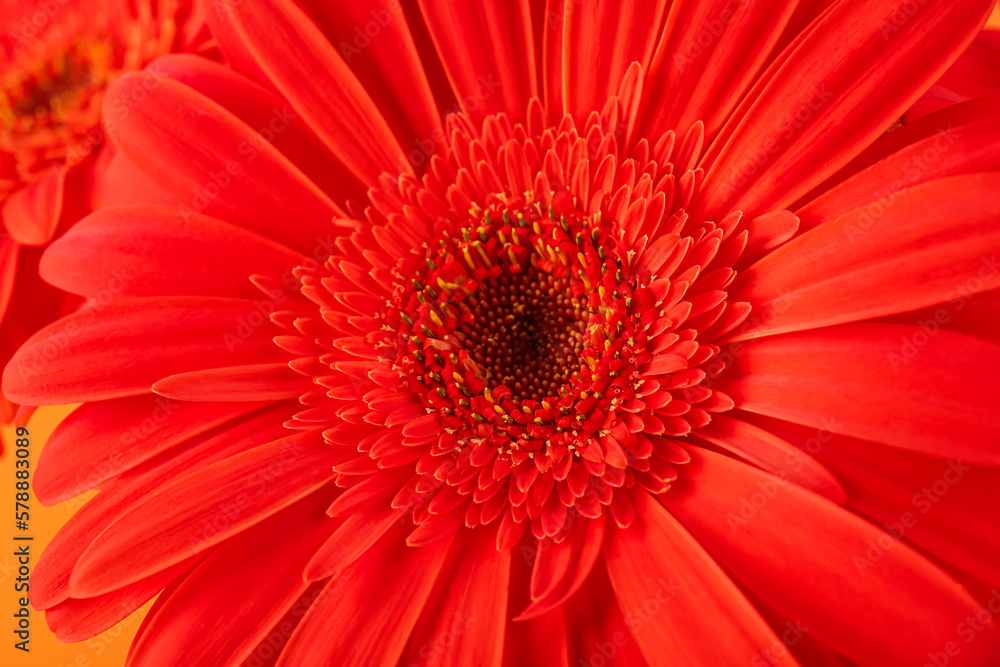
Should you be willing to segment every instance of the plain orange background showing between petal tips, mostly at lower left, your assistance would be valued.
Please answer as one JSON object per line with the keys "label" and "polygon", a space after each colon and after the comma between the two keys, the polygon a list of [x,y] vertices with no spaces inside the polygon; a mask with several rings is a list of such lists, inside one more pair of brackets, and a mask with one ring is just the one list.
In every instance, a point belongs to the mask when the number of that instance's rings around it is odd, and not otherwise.
{"label": "plain orange background showing between petal tips, mostly at lower left", "polygon": [[[1000,28],[1000,8],[993,12],[989,25]],[[52,433],[52,429],[71,410],[72,408],[68,407],[44,408],[39,410],[29,423],[32,471],[38,462],[38,452]],[[12,447],[14,431],[10,427],[2,427],[0,432],[4,441],[4,452],[0,457],[0,506],[8,508],[3,514],[6,523],[0,522],[0,543],[4,545],[3,551],[0,552],[0,642],[2,642],[0,664],[4,667],[121,667],[125,664],[132,637],[139,629],[151,602],[104,634],[78,644],[60,642],[45,625],[43,614],[32,610],[31,651],[23,653],[13,648],[14,642],[17,641],[13,634],[15,625],[13,614],[17,610],[17,600],[21,596],[14,590],[14,580],[17,577],[17,563],[13,555],[16,547],[12,539],[17,532],[13,525],[13,499],[16,492]],[[89,497],[89,495],[81,496],[53,507],[42,507],[33,497],[30,503],[31,530],[27,533],[35,538],[31,542],[32,566],[37,563],[38,554],[59,527],[65,524]]]}

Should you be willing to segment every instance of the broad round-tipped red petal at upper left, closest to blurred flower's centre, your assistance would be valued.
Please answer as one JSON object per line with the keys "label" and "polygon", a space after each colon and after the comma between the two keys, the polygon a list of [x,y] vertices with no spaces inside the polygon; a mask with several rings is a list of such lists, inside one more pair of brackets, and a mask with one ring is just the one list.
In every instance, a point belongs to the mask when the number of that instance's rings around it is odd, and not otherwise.
{"label": "broad round-tipped red petal at upper left, closest to blurred flower's centre", "polygon": [[255,128],[182,83],[125,74],[108,89],[104,114],[116,145],[184,215],[238,221],[310,256],[330,235],[330,220],[343,215],[274,146],[248,141]]}

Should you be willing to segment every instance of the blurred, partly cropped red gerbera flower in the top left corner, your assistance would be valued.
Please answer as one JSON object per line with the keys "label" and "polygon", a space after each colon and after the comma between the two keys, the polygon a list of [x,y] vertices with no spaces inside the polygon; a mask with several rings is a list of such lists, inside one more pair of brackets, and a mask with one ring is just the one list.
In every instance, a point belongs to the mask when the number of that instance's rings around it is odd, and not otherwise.
{"label": "blurred, partly cropped red gerbera flower in the top left corner", "polygon": [[[187,0],[17,0],[0,12],[0,360],[80,305],[38,278],[41,247],[100,206],[113,157],[100,127],[107,87],[173,50],[201,50]],[[0,419],[14,406],[0,399]]]}

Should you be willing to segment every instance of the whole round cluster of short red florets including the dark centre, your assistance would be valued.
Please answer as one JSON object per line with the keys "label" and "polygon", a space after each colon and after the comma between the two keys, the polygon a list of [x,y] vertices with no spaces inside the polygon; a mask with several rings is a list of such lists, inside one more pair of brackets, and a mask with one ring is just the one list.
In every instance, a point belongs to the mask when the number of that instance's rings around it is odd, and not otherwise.
{"label": "whole round cluster of short red florets including the dark centre", "polygon": [[705,380],[747,313],[723,291],[739,215],[684,211],[700,125],[623,156],[618,111],[583,133],[536,107],[528,127],[451,118],[423,179],[383,179],[341,254],[299,272],[333,329],[298,364],[328,388],[300,420],[342,420],[328,439],[360,453],[343,484],[400,473],[411,543],[498,519],[501,541],[560,539],[604,508],[627,525],[630,490],[663,492],[689,460],[673,438],[732,407]]}

